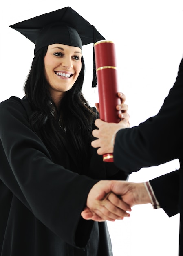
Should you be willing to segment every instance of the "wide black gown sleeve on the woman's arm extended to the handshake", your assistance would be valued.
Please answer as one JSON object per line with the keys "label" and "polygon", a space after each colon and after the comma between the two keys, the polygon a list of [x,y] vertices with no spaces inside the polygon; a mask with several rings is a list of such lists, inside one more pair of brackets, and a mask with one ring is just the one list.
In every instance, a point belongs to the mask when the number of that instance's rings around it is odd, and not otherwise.
{"label": "wide black gown sleeve on the woman's arm extended to the handshake", "polygon": [[2,182],[38,220],[75,246],[80,213],[98,180],[52,162],[17,97],[0,103],[0,155]]}

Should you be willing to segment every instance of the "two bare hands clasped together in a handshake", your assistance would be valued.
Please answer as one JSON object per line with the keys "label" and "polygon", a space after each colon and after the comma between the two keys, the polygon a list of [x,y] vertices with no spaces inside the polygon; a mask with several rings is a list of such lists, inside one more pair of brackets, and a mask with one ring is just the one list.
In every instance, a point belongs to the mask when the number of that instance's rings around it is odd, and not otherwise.
{"label": "two bare hands clasped together in a handshake", "polygon": [[128,211],[136,204],[151,203],[143,182],[101,180],[88,193],[86,207],[81,215],[85,220],[115,221],[130,217]]}

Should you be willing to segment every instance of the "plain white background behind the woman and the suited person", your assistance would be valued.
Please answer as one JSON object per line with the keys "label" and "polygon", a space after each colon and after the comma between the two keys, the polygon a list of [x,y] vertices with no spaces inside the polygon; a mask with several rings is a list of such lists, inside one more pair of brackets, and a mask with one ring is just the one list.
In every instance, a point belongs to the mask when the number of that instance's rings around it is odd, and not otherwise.
{"label": "plain white background behind the woman and the suited person", "polygon": [[[1,1],[0,101],[12,95],[23,97],[23,84],[33,59],[33,43],[9,25],[66,6],[115,43],[119,91],[127,96],[131,126],[157,114],[174,84],[183,54],[181,0]],[[91,89],[92,47],[83,47],[83,93],[94,106],[98,92]],[[132,173],[130,181],[143,182],[176,168],[178,160],[143,168]],[[114,256],[178,255],[179,215],[169,218],[162,209],[153,210],[150,204],[135,206],[130,218],[108,222],[108,227]]]}

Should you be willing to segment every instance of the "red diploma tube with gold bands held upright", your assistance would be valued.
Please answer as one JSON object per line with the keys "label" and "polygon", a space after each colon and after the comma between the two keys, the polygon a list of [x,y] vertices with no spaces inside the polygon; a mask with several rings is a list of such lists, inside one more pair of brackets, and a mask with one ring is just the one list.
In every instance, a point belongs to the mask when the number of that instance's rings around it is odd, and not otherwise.
{"label": "red diploma tube with gold bands held upright", "polygon": [[[111,41],[99,41],[94,44],[97,86],[99,92],[100,119],[109,123],[118,123],[121,111],[116,109],[121,100],[117,96],[117,65],[115,44]],[[113,154],[103,155],[103,161],[113,162]]]}

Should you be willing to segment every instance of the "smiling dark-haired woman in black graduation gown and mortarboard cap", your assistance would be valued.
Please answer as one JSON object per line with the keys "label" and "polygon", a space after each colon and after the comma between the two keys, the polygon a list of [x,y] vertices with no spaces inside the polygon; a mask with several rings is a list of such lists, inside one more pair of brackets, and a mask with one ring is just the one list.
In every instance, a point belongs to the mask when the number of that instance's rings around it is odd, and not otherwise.
{"label": "smiling dark-haired woman in black graduation gown and mortarboard cap", "polygon": [[106,222],[80,215],[99,180],[127,178],[91,147],[97,112],[81,92],[82,45],[104,37],[70,7],[10,27],[35,57],[25,97],[0,103],[0,254],[111,256]]}

